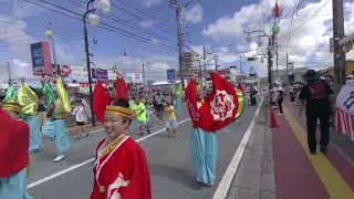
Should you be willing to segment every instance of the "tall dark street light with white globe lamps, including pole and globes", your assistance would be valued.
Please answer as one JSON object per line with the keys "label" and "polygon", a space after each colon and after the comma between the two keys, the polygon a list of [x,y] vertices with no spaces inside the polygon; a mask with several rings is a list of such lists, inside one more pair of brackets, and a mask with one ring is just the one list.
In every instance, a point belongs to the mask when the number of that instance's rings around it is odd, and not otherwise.
{"label": "tall dark street light with white globe lamps, including pole and globes", "polygon": [[[88,51],[88,38],[87,38],[87,27],[86,27],[86,19],[93,25],[98,25],[100,18],[97,14],[94,13],[96,10],[95,8],[90,9],[91,3],[95,0],[90,0],[86,4],[86,12],[83,15],[83,23],[84,23],[84,39],[85,39],[85,54],[86,54],[86,66],[87,66],[87,74],[88,74],[88,91],[90,91],[90,107],[91,107],[91,116],[92,116],[92,125],[95,126],[95,115],[93,113],[93,96],[92,96],[92,76],[91,76],[91,65],[90,65],[90,51]],[[110,0],[100,0],[101,10],[104,13],[108,13],[111,10],[111,2]],[[88,17],[87,17],[88,15]]]}

